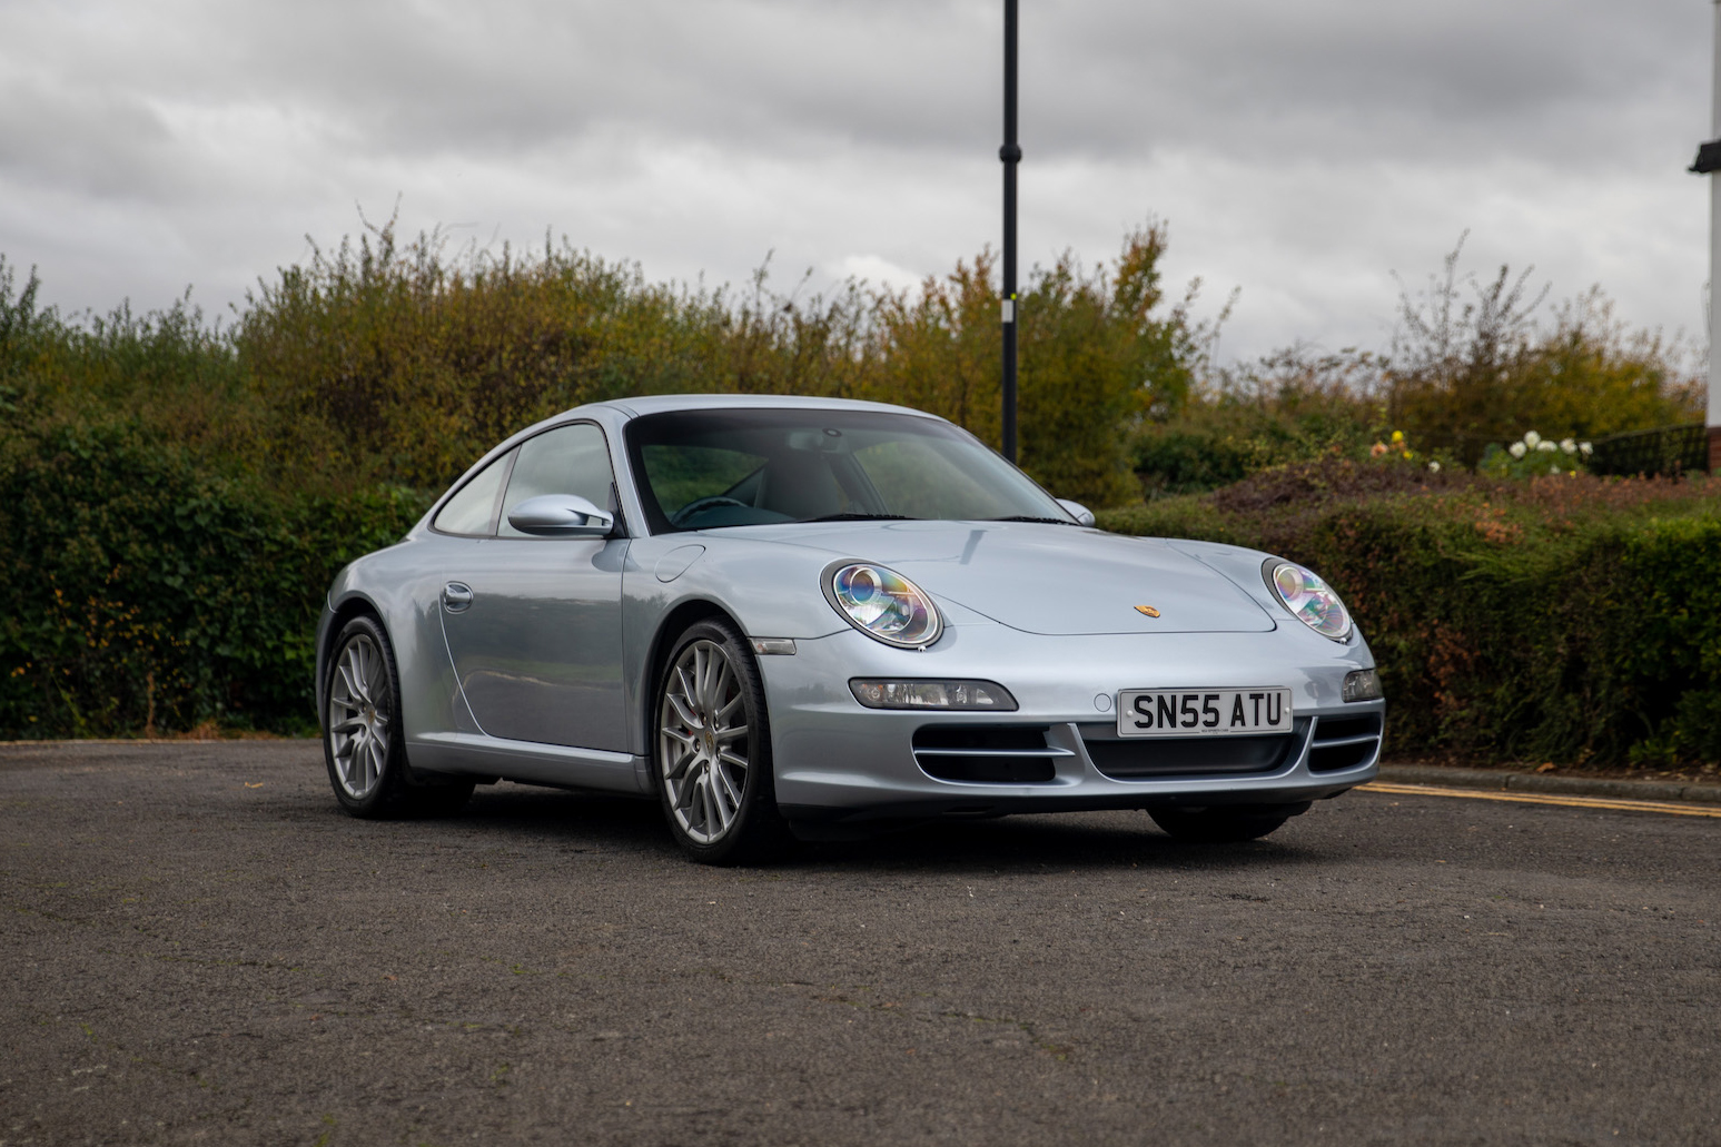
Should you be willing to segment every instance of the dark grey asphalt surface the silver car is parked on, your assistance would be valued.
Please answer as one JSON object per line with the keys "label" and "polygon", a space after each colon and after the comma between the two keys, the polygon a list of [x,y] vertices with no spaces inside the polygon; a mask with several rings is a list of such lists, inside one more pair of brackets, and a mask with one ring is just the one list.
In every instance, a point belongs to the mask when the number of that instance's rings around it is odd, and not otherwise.
{"label": "dark grey asphalt surface the silver car is parked on", "polygon": [[0,749],[0,1144],[1718,1144],[1721,820],[1353,792],[764,870],[649,804]]}

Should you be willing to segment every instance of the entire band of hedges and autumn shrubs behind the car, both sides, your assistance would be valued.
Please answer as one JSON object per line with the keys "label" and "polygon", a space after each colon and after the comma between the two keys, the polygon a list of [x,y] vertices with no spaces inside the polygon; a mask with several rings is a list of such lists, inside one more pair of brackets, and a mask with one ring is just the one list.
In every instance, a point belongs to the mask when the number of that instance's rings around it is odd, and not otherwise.
{"label": "entire band of hedges and autumn shrubs behind the car, both sides", "polygon": [[[1721,499],[1590,477],[1578,450],[1700,417],[1687,348],[1594,291],[1549,305],[1525,274],[1468,277],[1454,251],[1403,291],[1384,350],[1217,363],[1218,322],[1162,281],[1165,248],[1155,224],[1100,267],[1031,276],[1029,474],[1110,529],[1322,570],[1382,658],[1396,751],[1721,756],[1702,620],[1721,611],[1690,580],[1714,568]],[[504,434],[583,401],[871,398],[996,443],[995,279],[983,251],[917,293],[781,291],[766,270],[692,288],[568,245],[384,226],[217,324],[189,296],[64,315],[0,258],[0,735],[308,730],[332,574]]]}

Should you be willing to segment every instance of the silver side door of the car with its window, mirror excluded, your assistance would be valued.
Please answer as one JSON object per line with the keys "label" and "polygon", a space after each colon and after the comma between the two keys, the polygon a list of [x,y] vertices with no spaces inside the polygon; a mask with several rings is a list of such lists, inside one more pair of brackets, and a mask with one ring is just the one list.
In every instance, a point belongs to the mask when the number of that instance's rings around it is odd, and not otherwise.
{"label": "silver side door of the car with its window, mirror excluded", "polygon": [[578,494],[614,508],[604,432],[573,422],[518,446],[494,534],[451,551],[442,632],[454,677],[490,737],[626,751],[621,694],[625,537],[532,537],[508,515]]}

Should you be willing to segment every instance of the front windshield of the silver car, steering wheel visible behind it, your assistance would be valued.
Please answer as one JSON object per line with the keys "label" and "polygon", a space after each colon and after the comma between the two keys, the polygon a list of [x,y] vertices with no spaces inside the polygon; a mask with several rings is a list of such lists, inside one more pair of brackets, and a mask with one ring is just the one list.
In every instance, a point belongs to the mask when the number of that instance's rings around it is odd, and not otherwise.
{"label": "front windshield of the silver car, steering wheel visible behind it", "polygon": [[678,410],[626,427],[654,534],[860,518],[1074,522],[936,418],[871,410]]}

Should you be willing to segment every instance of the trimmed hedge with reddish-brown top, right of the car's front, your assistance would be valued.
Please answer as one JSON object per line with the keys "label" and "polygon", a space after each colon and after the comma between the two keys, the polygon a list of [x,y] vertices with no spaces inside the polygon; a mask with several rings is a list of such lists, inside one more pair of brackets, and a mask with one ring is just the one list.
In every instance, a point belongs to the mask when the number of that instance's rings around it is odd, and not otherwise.
{"label": "trimmed hedge with reddish-brown top, right of the car's front", "polygon": [[1389,753],[1721,760],[1721,494],[1709,482],[1489,484],[1330,463],[1100,524],[1255,546],[1327,577],[1380,665]]}

